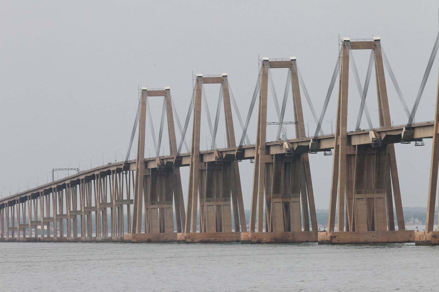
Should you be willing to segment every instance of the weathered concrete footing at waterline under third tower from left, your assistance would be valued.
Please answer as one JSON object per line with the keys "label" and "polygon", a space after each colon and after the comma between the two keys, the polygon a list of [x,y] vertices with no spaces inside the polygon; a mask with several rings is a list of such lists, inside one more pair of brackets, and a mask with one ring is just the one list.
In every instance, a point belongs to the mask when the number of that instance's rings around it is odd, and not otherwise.
{"label": "weathered concrete footing at waterline under third tower from left", "polygon": [[241,243],[306,243],[317,242],[317,231],[241,232]]}

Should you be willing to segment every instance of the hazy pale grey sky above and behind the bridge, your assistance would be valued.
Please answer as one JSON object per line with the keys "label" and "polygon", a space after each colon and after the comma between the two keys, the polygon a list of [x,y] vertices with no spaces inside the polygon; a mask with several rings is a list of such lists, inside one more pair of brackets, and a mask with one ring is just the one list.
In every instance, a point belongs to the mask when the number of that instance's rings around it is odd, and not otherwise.
{"label": "hazy pale grey sky above and behind the bridge", "polygon": [[[2,1],[0,9],[0,188],[3,195],[42,183],[52,168],[95,167],[125,155],[137,107],[137,86],[170,86],[180,119],[186,117],[194,73],[229,74],[245,119],[257,77],[258,54],[296,56],[320,115],[341,37],[380,36],[411,109],[438,32],[437,1]],[[355,52],[362,83],[369,52]],[[432,120],[438,80],[432,69],[416,121]],[[274,72],[283,96],[286,71]],[[386,78],[394,124],[407,122]],[[338,84],[338,83],[337,83]],[[336,85],[337,86],[337,85]],[[219,87],[206,85],[210,112]],[[325,120],[335,115],[336,92]],[[378,126],[374,77],[368,106]],[[305,121],[311,120],[304,104]],[[151,101],[156,133],[162,100]],[[349,84],[349,130],[359,95]],[[257,106],[255,107],[255,110]],[[276,120],[269,101],[268,120]],[[235,118],[237,140],[241,129]],[[255,139],[256,112],[249,136]],[[209,142],[203,127],[201,148]],[[291,93],[285,120],[294,120]],[[273,127],[273,126],[271,126]],[[363,128],[367,123],[363,120]],[[191,129],[191,126],[189,127]],[[150,137],[147,126],[147,140]],[[275,132],[275,128],[267,129]],[[273,131],[272,131],[273,130]],[[315,123],[309,122],[313,133]],[[331,123],[324,122],[329,133]],[[217,144],[224,144],[223,112]],[[271,135],[271,136],[270,136]],[[294,128],[288,127],[294,137]],[[179,134],[177,134],[179,137]],[[191,133],[187,134],[189,141]],[[207,138],[207,139],[206,139]],[[268,140],[274,137],[269,134]],[[137,140],[137,136],[136,136]],[[426,206],[431,140],[425,147],[396,145],[403,206]],[[134,143],[135,145],[136,143]],[[167,140],[163,141],[167,145]],[[146,147],[151,149],[149,140]],[[136,150],[136,149],[134,149]],[[162,153],[163,149],[161,150]],[[165,153],[168,149],[165,149]],[[148,156],[148,149],[145,151]],[[132,156],[133,157],[133,156]],[[317,208],[328,207],[332,157],[310,155]],[[250,208],[253,164],[240,164],[245,208]],[[187,196],[187,168],[182,173]],[[48,174],[47,174],[48,173]],[[64,174],[60,173],[60,177]]]}

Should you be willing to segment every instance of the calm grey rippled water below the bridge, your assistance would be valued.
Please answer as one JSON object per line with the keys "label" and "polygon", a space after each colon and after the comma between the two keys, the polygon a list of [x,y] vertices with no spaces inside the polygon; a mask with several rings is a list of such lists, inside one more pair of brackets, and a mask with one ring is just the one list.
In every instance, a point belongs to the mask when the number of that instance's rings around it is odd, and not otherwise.
{"label": "calm grey rippled water below the bridge", "polygon": [[438,291],[439,247],[414,243],[0,243],[0,250],[1,291]]}

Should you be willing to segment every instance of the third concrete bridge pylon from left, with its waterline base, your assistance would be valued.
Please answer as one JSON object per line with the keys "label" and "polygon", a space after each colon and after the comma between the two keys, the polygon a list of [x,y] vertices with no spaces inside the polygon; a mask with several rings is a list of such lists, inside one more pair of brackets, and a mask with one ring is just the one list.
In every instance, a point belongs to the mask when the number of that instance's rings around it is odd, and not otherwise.
{"label": "third concrete bridge pylon from left, with its waterline base", "polygon": [[[294,148],[285,139],[283,153],[271,154],[267,152],[267,93],[270,68],[289,69],[296,119],[295,133],[298,138],[306,137],[296,58],[291,57],[289,60],[263,58],[260,71],[259,111],[249,232],[241,235],[241,242],[316,242],[317,216],[309,167],[309,146]],[[309,217],[311,218],[311,229]]]}

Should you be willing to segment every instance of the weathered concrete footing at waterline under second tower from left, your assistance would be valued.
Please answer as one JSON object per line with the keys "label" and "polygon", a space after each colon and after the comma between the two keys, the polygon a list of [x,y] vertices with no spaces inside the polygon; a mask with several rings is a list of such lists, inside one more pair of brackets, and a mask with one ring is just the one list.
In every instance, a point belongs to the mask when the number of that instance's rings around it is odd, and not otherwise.
{"label": "weathered concrete footing at waterline under second tower from left", "polygon": [[241,232],[178,233],[178,243],[234,243],[241,241]]}

